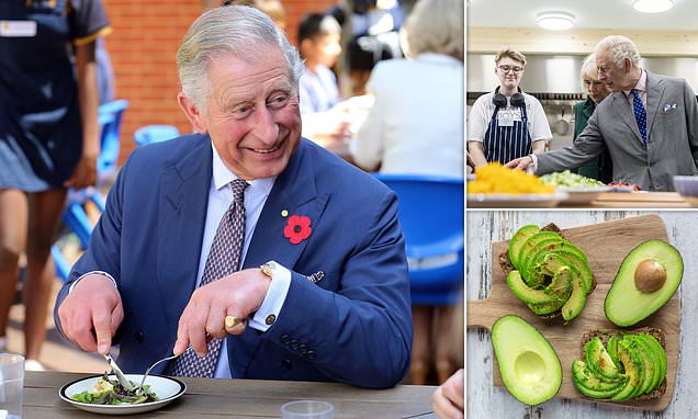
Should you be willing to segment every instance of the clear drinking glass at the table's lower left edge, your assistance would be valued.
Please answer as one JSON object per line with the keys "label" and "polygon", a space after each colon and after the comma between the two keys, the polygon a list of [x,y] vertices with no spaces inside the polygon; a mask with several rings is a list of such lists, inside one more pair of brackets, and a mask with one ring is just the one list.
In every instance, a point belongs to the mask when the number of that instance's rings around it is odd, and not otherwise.
{"label": "clear drinking glass at the table's lower left edge", "polygon": [[24,356],[0,353],[0,418],[22,418]]}

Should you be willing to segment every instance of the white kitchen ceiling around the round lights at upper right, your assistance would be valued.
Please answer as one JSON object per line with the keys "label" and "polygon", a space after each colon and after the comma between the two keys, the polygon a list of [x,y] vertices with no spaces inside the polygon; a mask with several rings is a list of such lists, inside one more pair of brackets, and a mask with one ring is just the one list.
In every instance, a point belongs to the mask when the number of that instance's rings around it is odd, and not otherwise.
{"label": "white kitchen ceiling around the round lights at upper right", "polygon": [[632,0],[470,0],[468,26],[537,27],[544,11],[573,13],[582,30],[698,31],[697,0],[674,0],[674,8],[656,14],[635,11]]}

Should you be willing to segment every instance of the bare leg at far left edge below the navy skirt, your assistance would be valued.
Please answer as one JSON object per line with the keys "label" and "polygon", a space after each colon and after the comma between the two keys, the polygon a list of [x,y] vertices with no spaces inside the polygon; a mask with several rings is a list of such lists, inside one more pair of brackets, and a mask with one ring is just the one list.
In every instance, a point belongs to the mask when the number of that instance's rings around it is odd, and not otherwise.
{"label": "bare leg at far left edge below the navy skirt", "polygon": [[27,212],[24,192],[0,190],[0,338],[3,339],[14,302],[18,263],[26,240]]}

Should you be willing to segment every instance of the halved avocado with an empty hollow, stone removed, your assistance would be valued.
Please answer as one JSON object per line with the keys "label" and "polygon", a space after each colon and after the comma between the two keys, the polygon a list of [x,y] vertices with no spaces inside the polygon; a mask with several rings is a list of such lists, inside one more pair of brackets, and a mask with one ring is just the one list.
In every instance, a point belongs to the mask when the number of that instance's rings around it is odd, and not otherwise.
{"label": "halved avocado with an empty hollow, stone removed", "polygon": [[545,338],[518,316],[504,316],[492,327],[492,346],[502,381],[517,400],[538,405],[562,385],[562,366]]}

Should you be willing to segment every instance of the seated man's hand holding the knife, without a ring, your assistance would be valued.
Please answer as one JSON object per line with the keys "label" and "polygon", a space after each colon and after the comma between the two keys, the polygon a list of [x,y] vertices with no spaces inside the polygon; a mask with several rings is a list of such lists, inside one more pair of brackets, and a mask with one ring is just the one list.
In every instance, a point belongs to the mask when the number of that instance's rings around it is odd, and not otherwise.
{"label": "seated man's hand holding the knife, without a ring", "polygon": [[112,337],[124,319],[124,307],[114,283],[101,274],[78,282],[58,307],[63,331],[83,351],[109,353]]}

